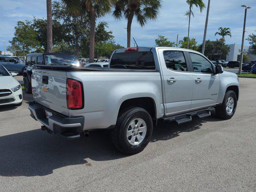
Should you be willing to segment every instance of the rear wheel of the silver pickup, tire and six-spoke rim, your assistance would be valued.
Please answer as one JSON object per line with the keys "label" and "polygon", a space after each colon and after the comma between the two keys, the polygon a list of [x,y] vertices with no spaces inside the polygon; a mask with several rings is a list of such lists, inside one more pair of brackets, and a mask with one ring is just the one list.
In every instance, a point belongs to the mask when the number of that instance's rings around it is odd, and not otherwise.
{"label": "rear wheel of the silver pickup, tire and six-spoke rim", "polygon": [[143,108],[127,109],[117,119],[112,131],[112,142],[124,154],[141,152],[150,142],[153,122],[150,114]]}

